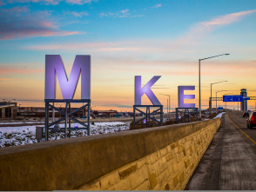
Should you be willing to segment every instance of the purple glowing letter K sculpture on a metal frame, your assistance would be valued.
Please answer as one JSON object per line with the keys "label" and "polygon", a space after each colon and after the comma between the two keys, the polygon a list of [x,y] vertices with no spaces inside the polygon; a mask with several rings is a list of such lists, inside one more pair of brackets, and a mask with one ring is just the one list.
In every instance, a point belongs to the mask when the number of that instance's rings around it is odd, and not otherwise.
{"label": "purple glowing letter K sculpture on a metal frame", "polygon": [[161,76],[153,76],[152,79],[141,89],[141,76],[135,76],[135,105],[141,105],[141,96],[144,94],[151,100],[153,105],[161,105],[151,87]]}

